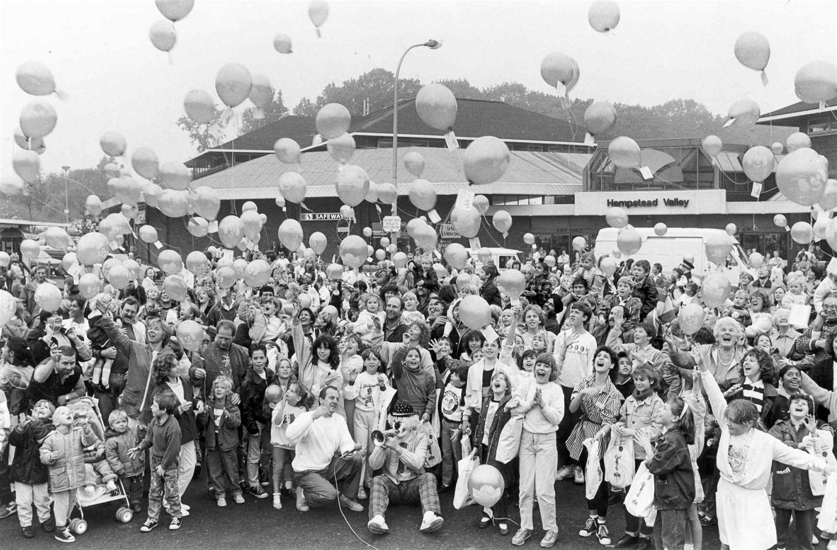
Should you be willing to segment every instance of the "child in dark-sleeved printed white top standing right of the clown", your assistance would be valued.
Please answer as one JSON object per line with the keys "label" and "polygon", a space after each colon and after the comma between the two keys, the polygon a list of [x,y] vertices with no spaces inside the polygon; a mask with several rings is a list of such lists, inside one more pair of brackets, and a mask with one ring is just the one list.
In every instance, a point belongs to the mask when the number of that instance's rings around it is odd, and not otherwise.
{"label": "child in dark-sleeved printed white top standing right of the clown", "polygon": [[465,383],[468,381],[469,368],[459,361],[450,365],[448,383],[439,400],[442,420],[442,491],[449,489],[454,479],[454,469],[462,460],[462,411],[465,409]]}

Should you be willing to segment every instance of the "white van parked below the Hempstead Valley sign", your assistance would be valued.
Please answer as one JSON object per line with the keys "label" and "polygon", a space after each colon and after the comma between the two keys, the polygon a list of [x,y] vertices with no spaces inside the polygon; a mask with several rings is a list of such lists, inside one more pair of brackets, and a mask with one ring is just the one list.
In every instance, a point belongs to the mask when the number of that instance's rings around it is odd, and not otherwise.
{"label": "white van parked below the Hempstead Valley sign", "polygon": [[[715,264],[711,263],[706,257],[706,239],[709,239],[711,235],[723,235],[734,242],[730,253],[732,261],[729,268],[725,270],[731,284],[738,284],[738,279],[743,271],[752,274],[747,255],[744,253],[741,244],[738,244],[734,237],[727,235],[727,232],[723,229],[670,227],[662,237],[658,237],[654,233],[654,228],[638,227],[635,229],[642,238],[642,248],[636,254],[631,254],[630,258],[634,261],[648,260],[650,265],[660,264],[663,266],[663,273],[665,274],[679,266],[686,256],[692,256],[695,259],[695,269],[692,270],[692,275],[702,278],[703,275],[715,270]],[[613,227],[599,229],[596,237],[596,248],[594,249],[597,258],[618,250],[616,247],[616,236],[618,234],[619,229]]]}

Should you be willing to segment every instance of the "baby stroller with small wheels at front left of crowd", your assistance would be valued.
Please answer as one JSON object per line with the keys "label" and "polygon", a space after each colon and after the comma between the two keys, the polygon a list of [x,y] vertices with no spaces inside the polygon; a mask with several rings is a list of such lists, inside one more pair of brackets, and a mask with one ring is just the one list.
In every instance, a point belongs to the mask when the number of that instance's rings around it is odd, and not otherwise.
{"label": "baby stroller with small wheels at front left of crowd", "polygon": [[[84,397],[76,399],[67,404],[67,407],[72,411],[74,418],[86,418],[90,428],[96,434],[100,441],[105,440],[105,422],[102,420],[101,413],[97,400],[95,398]],[[124,501],[125,506],[120,506],[116,510],[116,521],[127,523],[134,518],[134,511],[131,510],[131,502],[128,501],[128,495],[125,487],[119,477],[113,480],[115,489],[110,490],[102,481],[101,475],[96,475],[95,486],[92,491],[89,489],[85,491],[85,487],[80,487],[76,490],[75,507],[79,509],[81,517],[75,517],[69,520],[69,530],[76,535],[81,535],[87,531],[87,522],[85,521],[85,508],[88,506],[96,506],[105,502]],[[70,511],[72,514],[72,511]]]}

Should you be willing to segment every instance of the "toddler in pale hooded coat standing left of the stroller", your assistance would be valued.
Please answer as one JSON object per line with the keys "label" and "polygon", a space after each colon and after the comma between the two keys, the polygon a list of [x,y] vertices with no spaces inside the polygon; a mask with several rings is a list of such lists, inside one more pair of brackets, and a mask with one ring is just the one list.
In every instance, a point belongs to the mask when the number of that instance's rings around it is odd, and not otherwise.
{"label": "toddler in pale hooded coat standing left of the stroller", "polygon": [[73,510],[75,491],[85,485],[85,447],[98,440],[87,417],[74,424],[67,407],[55,409],[55,430],[46,436],[40,449],[41,462],[49,466],[49,492],[54,499],[55,540],[75,542],[69,532],[69,512]]}

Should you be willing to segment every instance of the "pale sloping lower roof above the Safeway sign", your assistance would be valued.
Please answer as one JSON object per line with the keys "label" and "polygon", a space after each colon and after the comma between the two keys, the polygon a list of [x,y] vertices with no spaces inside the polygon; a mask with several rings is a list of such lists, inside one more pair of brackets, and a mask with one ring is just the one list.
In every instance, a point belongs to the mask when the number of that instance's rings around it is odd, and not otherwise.
{"label": "pale sloping lower roof above the Safeway sign", "polygon": [[[434,183],[437,193],[455,194],[469,185],[460,160],[464,151],[451,153],[439,147],[399,147],[399,194],[407,194],[410,182],[415,179],[400,160],[409,151],[424,156],[422,177]],[[392,182],[392,155],[392,149],[362,149],[355,153],[352,164],[366,170],[373,182]],[[583,153],[512,151],[509,169],[501,182],[480,186],[480,193],[572,194],[581,191],[582,172],[590,157]],[[302,153],[302,162],[297,165],[284,164],[274,155],[267,155],[202,177],[199,184],[217,189],[223,199],[274,198],[280,175],[295,171],[306,178],[309,198],[334,197],[338,167],[328,152]]]}

